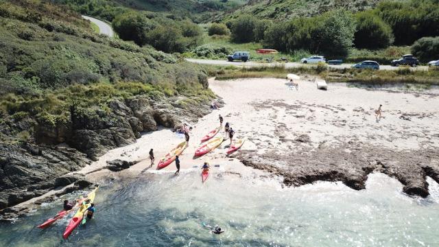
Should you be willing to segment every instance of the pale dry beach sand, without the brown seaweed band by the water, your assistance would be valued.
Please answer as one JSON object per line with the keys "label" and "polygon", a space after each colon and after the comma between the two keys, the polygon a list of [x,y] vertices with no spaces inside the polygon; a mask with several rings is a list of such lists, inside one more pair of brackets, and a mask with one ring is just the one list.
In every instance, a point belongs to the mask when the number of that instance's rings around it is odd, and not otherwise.
{"label": "pale dry beach sand, without the brown seaweed band by the water", "polygon": [[[224,124],[228,121],[235,130],[235,138],[247,139],[242,147],[243,150],[254,150],[259,153],[267,150],[286,152],[295,148],[291,142],[288,144],[279,141],[273,134],[274,131],[283,133],[285,139],[296,139],[300,134],[307,134],[311,138],[311,143],[296,145],[314,147],[321,143],[337,145],[349,140],[394,150],[439,147],[439,138],[431,137],[439,134],[437,128],[439,97],[434,95],[368,91],[348,88],[342,84],[329,84],[328,91],[320,91],[316,89],[315,84],[308,81],[300,81],[300,88],[296,91],[290,90],[285,85],[285,80],[270,78],[229,81],[211,79],[209,83],[211,89],[224,98],[226,105],[193,124],[189,147],[180,156],[183,172],[195,169],[194,166],[201,167],[204,161],[209,161],[211,165],[220,165],[222,171],[251,171],[249,168],[244,168],[244,165],[236,159],[226,157],[228,140],[213,152],[193,159],[193,154],[200,145],[199,140],[219,126],[219,114],[224,117]],[[261,104],[267,100],[276,100],[282,104],[298,107],[287,110],[283,106],[270,106],[257,110],[253,106],[255,103]],[[379,104],[383,104],[385,118],[377,122],[374,112]],[[402,113],[426,116],[423,118],[412,116],[411,121],[407,121],[399,118]],[[224,130],[219,134],[224,135]],[[81,172],[87,174],[104,167],[106,161],[116,158],[126,161],[145,159],[129,169],[134,174],[173,172],[176,170],[175,163],[171,163],[161,171],[156,171],[156,164],[171,148],[183,140],[167,129],[147,133],[138,139],[137,143],[110,150],[99,158],[99,161],[85,167]],[[148,158],[150,148],[154,148],[156,156],[153,167],[150,167]]]}

